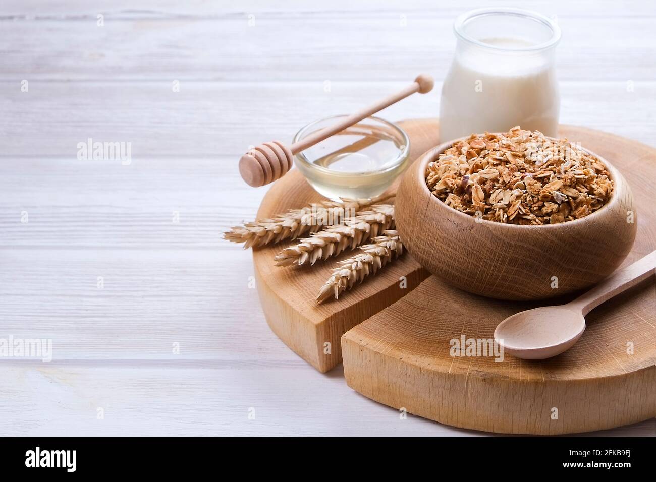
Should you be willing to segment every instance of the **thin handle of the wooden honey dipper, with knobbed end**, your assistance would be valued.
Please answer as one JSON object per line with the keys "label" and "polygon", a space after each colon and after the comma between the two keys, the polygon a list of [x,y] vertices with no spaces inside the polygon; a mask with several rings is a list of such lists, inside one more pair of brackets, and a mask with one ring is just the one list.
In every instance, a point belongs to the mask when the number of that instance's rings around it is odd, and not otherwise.
{"label": "thin handle of the wooden honey dipper, with knobbed end", "polygon": [[324,129],[321,129],[321,131],[314,132],[314,134],[310,134],[306,138],[303,138],[296,142],[295,144],[292,144],[289,148],[293,154],[300,152],[302,150],[305,150],[309,148],[310,146],[314,146],[314,144],[317,144],[318,142],[321,142],[322,140],[329,138],[333,134],[337,134],[339,131],[343,131],[346,129],[346,127],[349,127],[350,125],[355,124],[356,122],[361,121],[362,119],[366,119],[369,117],[369,115],[375,114],[380,110],[383,110],[386,107],[391,106],[392,104],[395,104],[396,102],[399,102],[401,99],[406,98],[409,95],[414,94],[415,92],[419,92],[420,94],[425,94],[426,92],[430,92],[430,90],[433,89],[434,81],[433,78],[430,77],[430,75],[426,74],[421,74],[417,76],[417,79],[405,89],[399,90],[396,92],[396,94],[392,94],[382,100],[379,100],[379,102],[376,102],[375,104],[364,108],[363,110],[360,110],[358,112],[352,113],[345,119],[342,119],[335,125],[331,125],[329,127],[325,127]]}

